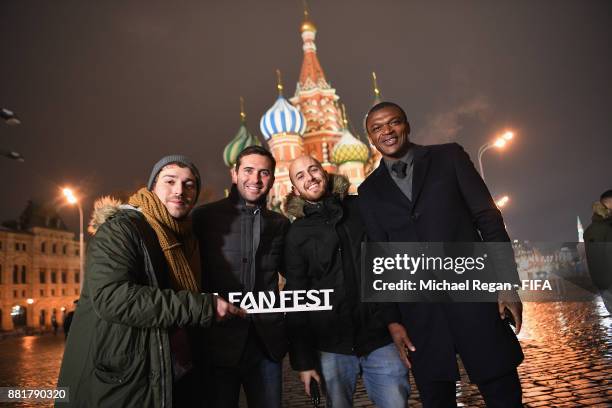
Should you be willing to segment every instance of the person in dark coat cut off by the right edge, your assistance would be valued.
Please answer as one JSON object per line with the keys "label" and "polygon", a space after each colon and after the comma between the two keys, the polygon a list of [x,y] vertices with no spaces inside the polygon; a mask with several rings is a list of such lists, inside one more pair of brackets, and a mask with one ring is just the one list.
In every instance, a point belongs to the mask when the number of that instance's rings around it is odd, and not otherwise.
{"label": "person in dark coat cut off by the right edge", "polygon": [[593,221],[584,231],[584,246],[593,284],[612,313],[612,190],[593,203]]}

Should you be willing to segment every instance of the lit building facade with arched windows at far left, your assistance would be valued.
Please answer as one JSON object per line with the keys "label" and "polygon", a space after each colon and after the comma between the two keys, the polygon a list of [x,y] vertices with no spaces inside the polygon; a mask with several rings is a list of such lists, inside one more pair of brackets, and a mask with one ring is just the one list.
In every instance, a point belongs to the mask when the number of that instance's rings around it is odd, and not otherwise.
{"label": "lit building facade with arched windows at far left", "polygon": [[0,329],[61,327],[80,293],[79,242],[49,207],[29,202],[0,226]]}

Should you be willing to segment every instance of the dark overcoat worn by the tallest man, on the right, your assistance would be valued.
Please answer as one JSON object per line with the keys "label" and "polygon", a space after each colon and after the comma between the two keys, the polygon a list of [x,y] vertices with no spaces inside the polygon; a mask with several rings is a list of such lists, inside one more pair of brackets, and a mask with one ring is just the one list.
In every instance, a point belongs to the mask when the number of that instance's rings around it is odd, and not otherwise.
{"label": "dark overcoat worn by the tallest man, on the right", "polygon": [[[381,161],[359,187],[369,239],[375,242],[509,241],[501,213],[469,156],[456,143],[413,145],[412,201]],[[400,303],[421,381],[457,380],[456,353],[470,379],[504,375],[523,359],[495,303]]]}

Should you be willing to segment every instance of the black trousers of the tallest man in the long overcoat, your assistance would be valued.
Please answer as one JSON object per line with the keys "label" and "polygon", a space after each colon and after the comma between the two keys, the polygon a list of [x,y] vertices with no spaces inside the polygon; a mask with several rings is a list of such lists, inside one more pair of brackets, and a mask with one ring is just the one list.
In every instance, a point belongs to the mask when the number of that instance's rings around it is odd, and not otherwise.
{"label": "black trousers of the tallest man in the long overcoat", "polygon": [[[416,380],[417,388],[423,402],[423,408],[455,408],[454,381],[428,381]],[[517,408],[522,407],[522,389],[518,372],[512,372],[493,380],[477,383],[480,394],[487,408]]]}

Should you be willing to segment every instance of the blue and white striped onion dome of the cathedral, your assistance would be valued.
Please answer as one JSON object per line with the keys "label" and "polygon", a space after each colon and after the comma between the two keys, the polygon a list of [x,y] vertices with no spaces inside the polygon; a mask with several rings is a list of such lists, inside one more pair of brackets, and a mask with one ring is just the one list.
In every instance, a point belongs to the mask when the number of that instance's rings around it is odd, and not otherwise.
{"label": "blue and white striped onion dome of the cathedral", "polygon": [[279,133],[304,134],[306,118],[295,106],[279,95],[274,105],[261,117],[259,128],[266,140]]}

